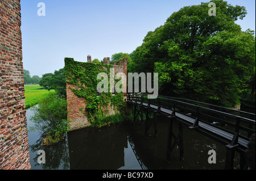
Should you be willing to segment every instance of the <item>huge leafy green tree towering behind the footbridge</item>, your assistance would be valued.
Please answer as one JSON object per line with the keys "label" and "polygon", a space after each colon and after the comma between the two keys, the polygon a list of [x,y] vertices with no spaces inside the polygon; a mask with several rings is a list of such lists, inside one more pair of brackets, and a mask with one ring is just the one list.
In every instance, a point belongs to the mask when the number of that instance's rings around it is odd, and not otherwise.
{"label": "huge leafy green tree towering behind the footbridge", "polygon": [[245,7],[216,3],[216,16],[208,4],[185,6],[163,26],[150,31],[133,54],[132,71],[158,72],[160,90],[232,107],[245,82],[255,72],[255,36],[235,23]]}

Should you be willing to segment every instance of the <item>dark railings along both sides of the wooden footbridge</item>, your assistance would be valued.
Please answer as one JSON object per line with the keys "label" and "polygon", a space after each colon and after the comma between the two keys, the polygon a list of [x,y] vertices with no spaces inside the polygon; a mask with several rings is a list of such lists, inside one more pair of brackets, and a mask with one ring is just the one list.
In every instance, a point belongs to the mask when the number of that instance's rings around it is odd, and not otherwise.
{"label": "dark railings along both sides of the wooden footbridge", "polygon": [[[250,135],[255,132],[255,114],[253,113],[249,113],[249,115],[253,115],[252,117],[254,117],[254,119],[249,119],[247,117],[213,109],[218,106],[214,107],[214,105],[212,105],[212,108],[208,108],[166,96],[159,96],[156,99],[147,99],[147,97],[142,94],[129,94],[127,95],[127,101],[135,104],[144,104],[148,107],[154,105],[159,111],[162,108],[175,110],[195,120],[192,127],[198,127],[199,123],[205,123],[232,135],[237,133],[239,137],[245,140],[249,140]],[[210,105],[211,104],[208,106]],[[235,142],[237,142],[237,139],[238,137]]]}

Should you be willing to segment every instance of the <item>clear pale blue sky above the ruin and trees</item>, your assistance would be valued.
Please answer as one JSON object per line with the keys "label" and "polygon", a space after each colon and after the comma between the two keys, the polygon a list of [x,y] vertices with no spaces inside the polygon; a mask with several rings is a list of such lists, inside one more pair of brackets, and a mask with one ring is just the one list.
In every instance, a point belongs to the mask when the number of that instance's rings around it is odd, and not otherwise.
{"label": "clear pale blue sky above the ruin and trees", "polygon": [[[227,0],[245,6],[238,20],[242,30],[255,31],[255,0]],[[46,16],[38,16],[38,3]],[[203,0],[21,0],[23,66],[33,75],[64,68],[64,57],[76,61],[103,60],[114,53],[131,53],[148,31],[163,25],[181,7]]]}

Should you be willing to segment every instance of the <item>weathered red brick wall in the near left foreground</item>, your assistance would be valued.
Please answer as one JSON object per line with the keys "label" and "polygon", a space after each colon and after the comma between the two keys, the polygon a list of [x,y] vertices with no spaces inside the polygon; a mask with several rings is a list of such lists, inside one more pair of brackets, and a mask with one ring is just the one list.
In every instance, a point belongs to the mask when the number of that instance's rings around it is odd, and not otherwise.
{"label": "weathered red brick wall in the near left foreground", "polygon": [[0,0],[0,169],[31,169],[20,0]]}

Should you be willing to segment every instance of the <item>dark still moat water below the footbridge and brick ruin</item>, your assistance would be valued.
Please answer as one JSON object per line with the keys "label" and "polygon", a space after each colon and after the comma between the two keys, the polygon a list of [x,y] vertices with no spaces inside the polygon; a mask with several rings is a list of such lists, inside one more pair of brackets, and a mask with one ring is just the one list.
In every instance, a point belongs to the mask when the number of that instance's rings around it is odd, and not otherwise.
{"label": "dark still moat water below the footbridge and brick ruin", "polygon": [[[27,110],[28,127],[33,112]],[[168,120],[157,117],[158,137],[154,128],[144,138],[144,125],[140,122],[113,124],[106,127],[84,128],[69,132],[67,138],[53,146],[41,146],[39,132],[28,132],[30,163],[32,170],[190,170],[224,169],[225,145],[205,137],[184,126],[184,159],[179,159],[179,148],[175,146],[171,163],[166,162]],[[174,121],[174,131],[178,125]],[[177,132],[176,132],[177,135]],[[172,140],[172,143],[174,140]],[[209,150],[216,151],[216,163],[208,163]],[[44,150],[46,163],[38,163],[37,153]],[[234,168],[239,169],[240,154],[236,153]]]}

